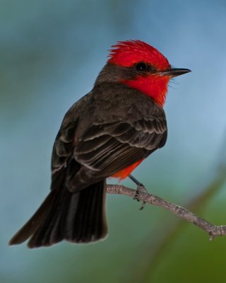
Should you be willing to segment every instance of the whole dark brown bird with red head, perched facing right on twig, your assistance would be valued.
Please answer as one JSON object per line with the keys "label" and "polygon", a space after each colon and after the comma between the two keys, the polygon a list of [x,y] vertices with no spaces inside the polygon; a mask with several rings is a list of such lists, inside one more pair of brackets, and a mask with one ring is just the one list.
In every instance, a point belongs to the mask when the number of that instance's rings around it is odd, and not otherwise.
{"label": "whole dark brown bird with red head, perched facing right on twig", "polygon": [[9,244],[105,238],[106,178],[126,178],[165,145],[167,86],[189,71],[172,68],[141,40],[113,45],[93,90],[66,112],[53,146],[49,195]]}

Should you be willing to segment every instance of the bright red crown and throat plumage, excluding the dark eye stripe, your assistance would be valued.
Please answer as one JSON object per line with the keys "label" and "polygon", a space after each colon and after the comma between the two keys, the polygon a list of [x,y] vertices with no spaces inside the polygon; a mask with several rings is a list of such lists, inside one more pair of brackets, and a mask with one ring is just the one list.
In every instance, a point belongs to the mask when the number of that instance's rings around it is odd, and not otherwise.
{"label": "bright red crown and throat plumage, excluding the dark eye stripe", "polygon": [[145,62],[155,67],[155,74],[136,76],[133,80],[121,80],[131,88],[136,88],[147,96],[150,96],[159,105],[165,103],[169,76],[161,76],[159,71],[170,68],[170,64],[155,47],[141,40],[127,40],[118,42],[110,50],[109,63],[121,67],[133,67],[138,62]]}

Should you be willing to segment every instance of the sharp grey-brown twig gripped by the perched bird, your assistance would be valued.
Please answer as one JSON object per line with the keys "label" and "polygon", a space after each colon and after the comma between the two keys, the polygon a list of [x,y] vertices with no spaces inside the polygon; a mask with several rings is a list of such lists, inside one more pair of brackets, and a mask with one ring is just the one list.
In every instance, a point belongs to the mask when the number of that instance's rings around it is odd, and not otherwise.
{"label": "sharp grey-brown twig gripped by the perched bird", "polygon": [[[136,195],[136,190],[133,190],[124,185],[107,185],[107,192],[109,194],[127,195],[132,198],[134,198]],[[159,207],[163,207],[169,210],[169,212],[172,212],[172,214],[195,224],[210,235],[210,240],[213,240],[215,236],[226,235],[226,226],[215,226],[213,224],[210,224],[205,219],[197,216],[196,214],[193,214],[192,212],[189,212],[189,210],[185,209],[184,207],[180,207],[179,205],[174,204],[172,202],[167,202],[161,197],[157,197],[156,195],[150,195],[145,192],[140,192],[139,200],[142,200],[147,204],[153,204]]]}

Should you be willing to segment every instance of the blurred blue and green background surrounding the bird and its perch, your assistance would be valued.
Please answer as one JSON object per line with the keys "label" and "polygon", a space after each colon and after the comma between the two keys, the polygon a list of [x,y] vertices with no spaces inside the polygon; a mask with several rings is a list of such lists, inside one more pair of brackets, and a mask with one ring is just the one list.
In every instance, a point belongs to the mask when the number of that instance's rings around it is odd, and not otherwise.
{"label": "blurred blue and green background surrounding the bird and its perch", "polygon": [[139,211],[122,195],[107,196],[105,241],[37,250],[7,243],[49,192],[64,113],[93,87],[117,40],[144,40],[173,67],[192,70],[170,83],[166,146],[133,175],[149,192],[226,223],[226,2],[0,4],[0,282],[222,282],[225,237],[210,242],[196,226],[159,207]]}

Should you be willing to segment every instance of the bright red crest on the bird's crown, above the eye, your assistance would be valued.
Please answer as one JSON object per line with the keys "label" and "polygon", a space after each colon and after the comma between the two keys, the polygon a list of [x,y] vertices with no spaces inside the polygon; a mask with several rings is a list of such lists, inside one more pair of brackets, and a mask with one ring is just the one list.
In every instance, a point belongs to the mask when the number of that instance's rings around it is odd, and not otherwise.
{"label": "bright red crest on the bird's crown, above the eye", "polygon": [[167,58],[162,53],[141,40],[119,41],[112,47],[113,49],[109,50],[109,63],[131,67],[138,62],[146,62],[158,70],[170,68]]}

